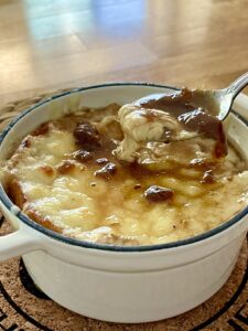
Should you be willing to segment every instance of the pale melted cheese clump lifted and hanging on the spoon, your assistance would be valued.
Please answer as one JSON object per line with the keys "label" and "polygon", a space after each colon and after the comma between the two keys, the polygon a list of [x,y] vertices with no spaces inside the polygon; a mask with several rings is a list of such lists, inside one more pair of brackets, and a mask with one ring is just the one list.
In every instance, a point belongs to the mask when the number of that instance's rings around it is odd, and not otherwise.
{"label": "pale melted cheese clump lifted and hanging on the spoon", "polygon": [[168,150],[164,140],[183,140],[196,136],[196,132],[185,131],[169,113],[159,109],[128,104],[120,108],[118,117],[125,138],[114,153],[127,162],[164,162],[174,154]]}

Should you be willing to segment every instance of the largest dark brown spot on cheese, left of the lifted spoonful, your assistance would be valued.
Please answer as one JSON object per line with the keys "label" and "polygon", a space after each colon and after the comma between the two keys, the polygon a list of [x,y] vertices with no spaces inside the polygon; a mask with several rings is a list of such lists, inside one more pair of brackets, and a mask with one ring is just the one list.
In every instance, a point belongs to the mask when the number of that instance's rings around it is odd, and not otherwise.
{"label": "largest dark brown spot on cheese, left of the lifted spoonful", "polygon": [[77,145],[85,150],[93,151],[100,146],[100,135],[96,127],[89,122],[77,124],[73,134]]}

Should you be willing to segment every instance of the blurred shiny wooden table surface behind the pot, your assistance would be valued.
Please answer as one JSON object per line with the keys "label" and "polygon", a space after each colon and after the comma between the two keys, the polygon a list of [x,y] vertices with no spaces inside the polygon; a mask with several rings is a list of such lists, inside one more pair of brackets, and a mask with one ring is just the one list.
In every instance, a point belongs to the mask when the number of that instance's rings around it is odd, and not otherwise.
{"label": "blurred shiny wooden table surface behind the pot", "polygon": [[104,81],[217,88],[247,71],[247,0],[0,0],[0,105]]}

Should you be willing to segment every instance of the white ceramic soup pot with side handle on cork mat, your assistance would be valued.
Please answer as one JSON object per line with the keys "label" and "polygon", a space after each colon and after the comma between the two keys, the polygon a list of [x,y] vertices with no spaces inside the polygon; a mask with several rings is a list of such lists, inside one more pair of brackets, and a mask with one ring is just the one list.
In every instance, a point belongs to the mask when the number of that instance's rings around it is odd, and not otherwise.
{"label": "white ceramic soup pot with side handle on cork mat", "polygon": [[[173,88],[119,83],[51,97],[28,109],[3,131],[0,160],[8,158],[40,124],[80,106],[103,107],[114,102],[122,105]],[[244,103],[246,97],[241,98]],[[237,114],[230,115],[228,135],[248,157],[248,126]],[[246,207],[225,224],[185,241],[141,247],[107,246],[67,238],[42,227],[11,203],[2,186],[0,206],[17,229],[0,237],[0,260],[22,255],[32,279],[50,298],[80,314],[112,322],[161,320],[208,299],[229,277],[248,228]]]}

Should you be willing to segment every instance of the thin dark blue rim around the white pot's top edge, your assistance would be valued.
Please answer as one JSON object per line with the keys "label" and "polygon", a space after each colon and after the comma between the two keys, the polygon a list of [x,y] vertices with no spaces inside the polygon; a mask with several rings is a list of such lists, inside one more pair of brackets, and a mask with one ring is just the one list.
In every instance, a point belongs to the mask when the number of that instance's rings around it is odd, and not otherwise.
{"label": "thin dark blue rim around the white pot's top edge", "polygon": [[[14,127],[14,125],[29,115],[32,110],[39,108],[40,106],[43,106],[51,100],[61,98],[66,95],[71,95],[74,93],[87,90],[87,89],[96,89],[96,88],[105,88],[105,87],[121,87],[121,86],[148,86],[148,87],[160,87],[160,88],[169,88],[169,89],[174,89],[179,90],[180,88],[169,86],[169,85],[163,85],[163,84],[155,84],[155,83],[144,83],[144,82],[114,82],[114,83],[103,83],[103,84],[96,84],[96,85],[87,85],[84,87],[78,87],[78,88],[73,88],[66,92],[62,92],[60,94],[55,94],[53,96],[50,96],[48,98],[45,98],[44,100],[29,107],[24,111],[22,111],[18,117],[15,117],[0,134],[0,146],[2,145],[6,136],[8,132]],[[241,115],[236,113],[235,110],[231,110],[231,113],[242,122],[248,127],[248,120],[245,119]],[[83,248],[94,248],[94,249],[99,249],[99,250],[110,250],[110,252],[129,252],[129,253],[134,253],[134,252],[150,252],[150,250],[160,250],[160,249],[169,249],[169,248],[176,248],[176,247],[182,247],[186,246],[190,244],[196,244],[198,242],[202,242],[204,239],[209,239],[211,237],[220,234],[225,229],[231,227],[236,223],[238,223],[244,216],[248,214],[248,205],[242,209],[240,212],[235,214],[229,221],[207,231],[202,234],[198,234],[193,237],[188,237],[185,239],[176,241],[176,242],[171,242],[171,243],[164,243],[164,244],[154,244],[154,245],[141,245],[141,246],[121,246],[121,245],[110,245],[110,244],[98,244],[94,242],[86,242],[86,241],[80,241],[80,239],[75,239],[68,236],[64,236],[60,233],[53,232],[39,223],[32,221],[30,217],[28,217],[17,205],[14,205],[9,196],[7,195],[3,186],[0,184],[0,201],[3,203],[3,205],[11,212],[13,213],[13,210],[17,211],[18,213],[14,213],[19,221],[23,222],[25,225],[29,227],[42,233],[43,235],[47,235],[48,237],[52,237],[53,239],[56,239],[58,242],[62,242],[64,244],[73,245],[73,246],[78,246]]]}

